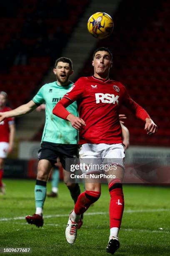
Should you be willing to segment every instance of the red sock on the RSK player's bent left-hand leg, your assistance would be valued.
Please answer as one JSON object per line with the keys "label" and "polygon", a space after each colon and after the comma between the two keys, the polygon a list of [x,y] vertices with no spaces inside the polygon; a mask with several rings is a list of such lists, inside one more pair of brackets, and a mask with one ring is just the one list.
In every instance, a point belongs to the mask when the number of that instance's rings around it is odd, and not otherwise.
{"label": "red sock on the RSK player's bent left-hand leg", "polygon": [[81,193],[77,199],[77,202],[75,204],[75,214],[80,215],[84,213],[91,204],[96,202],[100,197],[100,192],[97,191],[85,191]]}

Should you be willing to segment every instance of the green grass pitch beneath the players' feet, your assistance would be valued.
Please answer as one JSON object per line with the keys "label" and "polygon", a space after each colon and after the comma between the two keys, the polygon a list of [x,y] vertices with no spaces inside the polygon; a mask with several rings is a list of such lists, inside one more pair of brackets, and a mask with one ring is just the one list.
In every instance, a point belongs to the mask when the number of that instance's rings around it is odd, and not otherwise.
{"label": "green grass pitch beneath the players' feet", "polygon": [[[73,201],[62,182],[59,197],[46,198],[43,228],[28,225],[24,218],[35,213],[35,181],[4,179],[4,182],[7,194],[0,196],[0,247],[32,249],[31,253],[17,255],[110,255],[106,253],[110,201],[106,184],[102,185],[100,199],[85,213],[75,244],[69,245],[65,227]],[[120,249],[115,255],[170,255],[170,189],[124,185],[124,195]]]}

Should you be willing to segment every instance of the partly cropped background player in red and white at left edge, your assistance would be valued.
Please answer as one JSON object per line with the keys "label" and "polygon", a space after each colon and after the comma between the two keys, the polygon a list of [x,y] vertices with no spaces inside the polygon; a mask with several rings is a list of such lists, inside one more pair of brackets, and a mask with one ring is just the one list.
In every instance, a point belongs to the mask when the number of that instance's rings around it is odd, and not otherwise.
{"label": "partly cropped background player in red and white at left edge", "polygon": [[[11,110],[6,107],[7,93],[0,92],[0,112]],[[5,186],[2,183],[4,159],[13,150],[15,134],[14,118],[6,118],[0,122],[0,193],[5,194]]]}

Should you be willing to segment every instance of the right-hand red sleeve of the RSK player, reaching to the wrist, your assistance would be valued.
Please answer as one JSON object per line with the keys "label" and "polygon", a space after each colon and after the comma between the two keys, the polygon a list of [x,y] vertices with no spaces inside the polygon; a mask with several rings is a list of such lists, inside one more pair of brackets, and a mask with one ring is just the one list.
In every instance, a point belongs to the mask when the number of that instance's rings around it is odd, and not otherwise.
{"label": "right-hand red sleeve of the RSK player, reaching to the wrist", "polygon": [[123,101],[122,104],[125,105],[129,110],[131,110],[137,118],[140,120],[145,121],[146,118],[150,118],[148,113],[144,108],[142,108],[140,105],[138,105],[129,95],[128,91],[124,87],[124,95],[123,95]]}

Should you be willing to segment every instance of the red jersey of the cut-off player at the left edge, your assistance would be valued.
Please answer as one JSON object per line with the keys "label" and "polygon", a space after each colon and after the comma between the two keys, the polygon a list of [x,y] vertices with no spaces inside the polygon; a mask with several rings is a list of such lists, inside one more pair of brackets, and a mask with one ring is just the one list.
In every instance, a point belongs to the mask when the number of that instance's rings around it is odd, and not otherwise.
{"label": "red jersey of the cut-off player at the left edge", "polygon": [[[4,107],[0,112],[6,112],[10,111],[11,108]],[[9,135],[10,135],[10,130],[9,130],[9,124],[14,123],[14,118],[5,118],[0,123],[0,142],[9,142]]]}

